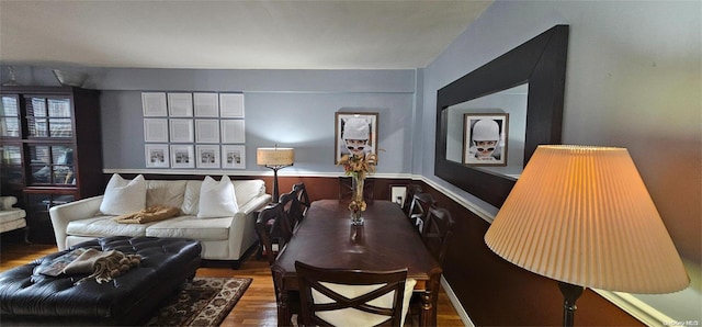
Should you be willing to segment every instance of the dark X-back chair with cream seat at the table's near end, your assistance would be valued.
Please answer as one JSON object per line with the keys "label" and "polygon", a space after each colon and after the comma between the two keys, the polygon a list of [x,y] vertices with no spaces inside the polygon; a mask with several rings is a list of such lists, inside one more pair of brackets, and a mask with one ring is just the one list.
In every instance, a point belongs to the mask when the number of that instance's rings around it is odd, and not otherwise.
{"label": "dark X-back chair with cream seat at the table's near end", "polygon": [[305,326],[403,326],[416,281],[392,271],[326,269],[295,261]]}

